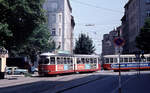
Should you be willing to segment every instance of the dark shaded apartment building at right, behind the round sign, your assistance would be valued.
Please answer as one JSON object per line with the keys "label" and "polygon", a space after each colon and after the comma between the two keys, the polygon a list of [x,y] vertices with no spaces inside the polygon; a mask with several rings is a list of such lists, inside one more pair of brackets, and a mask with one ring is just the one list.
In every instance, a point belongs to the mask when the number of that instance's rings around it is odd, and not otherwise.
{"label": "dark shaded apartment building at right, behind the round sign", "polygon": [[143,27],[145,19],[150,17],[150,0],[129,0],[125,5],[125,14],[122,17],[122,33],[126,43],[123,53],[134,53],[135,39]]}

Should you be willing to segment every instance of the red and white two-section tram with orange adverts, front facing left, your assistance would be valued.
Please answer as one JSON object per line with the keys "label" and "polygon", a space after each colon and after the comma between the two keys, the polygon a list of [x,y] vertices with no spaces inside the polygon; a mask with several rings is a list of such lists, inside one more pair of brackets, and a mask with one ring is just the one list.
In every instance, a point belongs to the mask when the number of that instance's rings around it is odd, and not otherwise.
{"label": "red and white two-section tram with orange adverts, front facing left", "polygon": [[69,55],[42,53],[39,59],[40,76],[74,72],[92,72],[101,69],[97,55]]}

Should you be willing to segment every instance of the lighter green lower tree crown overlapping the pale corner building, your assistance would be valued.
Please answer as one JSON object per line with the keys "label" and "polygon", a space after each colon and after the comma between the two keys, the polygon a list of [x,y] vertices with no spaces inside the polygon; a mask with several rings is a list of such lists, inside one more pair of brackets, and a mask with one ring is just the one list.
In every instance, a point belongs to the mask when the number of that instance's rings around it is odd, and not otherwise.
{"label": "lighter green lower tree crown overlapping the pale corner building", "polygon": [[31,36],[27,39],[27,43],[22,46],[23,54],[32,55],[38,52],[47,52],[55,49],[55,44],[50,38],[50,32],[45,24],[37,27]]}

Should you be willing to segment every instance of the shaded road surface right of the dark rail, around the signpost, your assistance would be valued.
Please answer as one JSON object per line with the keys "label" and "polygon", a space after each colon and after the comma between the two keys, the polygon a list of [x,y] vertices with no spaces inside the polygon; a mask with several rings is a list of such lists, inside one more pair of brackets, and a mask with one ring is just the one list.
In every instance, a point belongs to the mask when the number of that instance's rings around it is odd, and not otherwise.
{"label": "shaded road surface right of the dark rail, around the signpost", "polygon": [[[123,74],[121,76],[121,93],[150,93],[150,74]],[[111,75],[89,84],[62,91],[61,93],[119,93],[118,76]]]}

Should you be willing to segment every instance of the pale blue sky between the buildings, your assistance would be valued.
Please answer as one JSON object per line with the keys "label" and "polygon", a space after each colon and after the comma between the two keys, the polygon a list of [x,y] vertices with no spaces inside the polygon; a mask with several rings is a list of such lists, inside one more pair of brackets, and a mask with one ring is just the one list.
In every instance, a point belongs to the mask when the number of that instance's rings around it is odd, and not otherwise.
{"label": "pale blue sky between the buildings", "polygon": [[87,34],[93,40],[96,53],[101,54],[103,35],[121,25],[120,20],[124,15],[124,5],[127,1],[70,0],[76,23],[74,42],[79,34]]}

